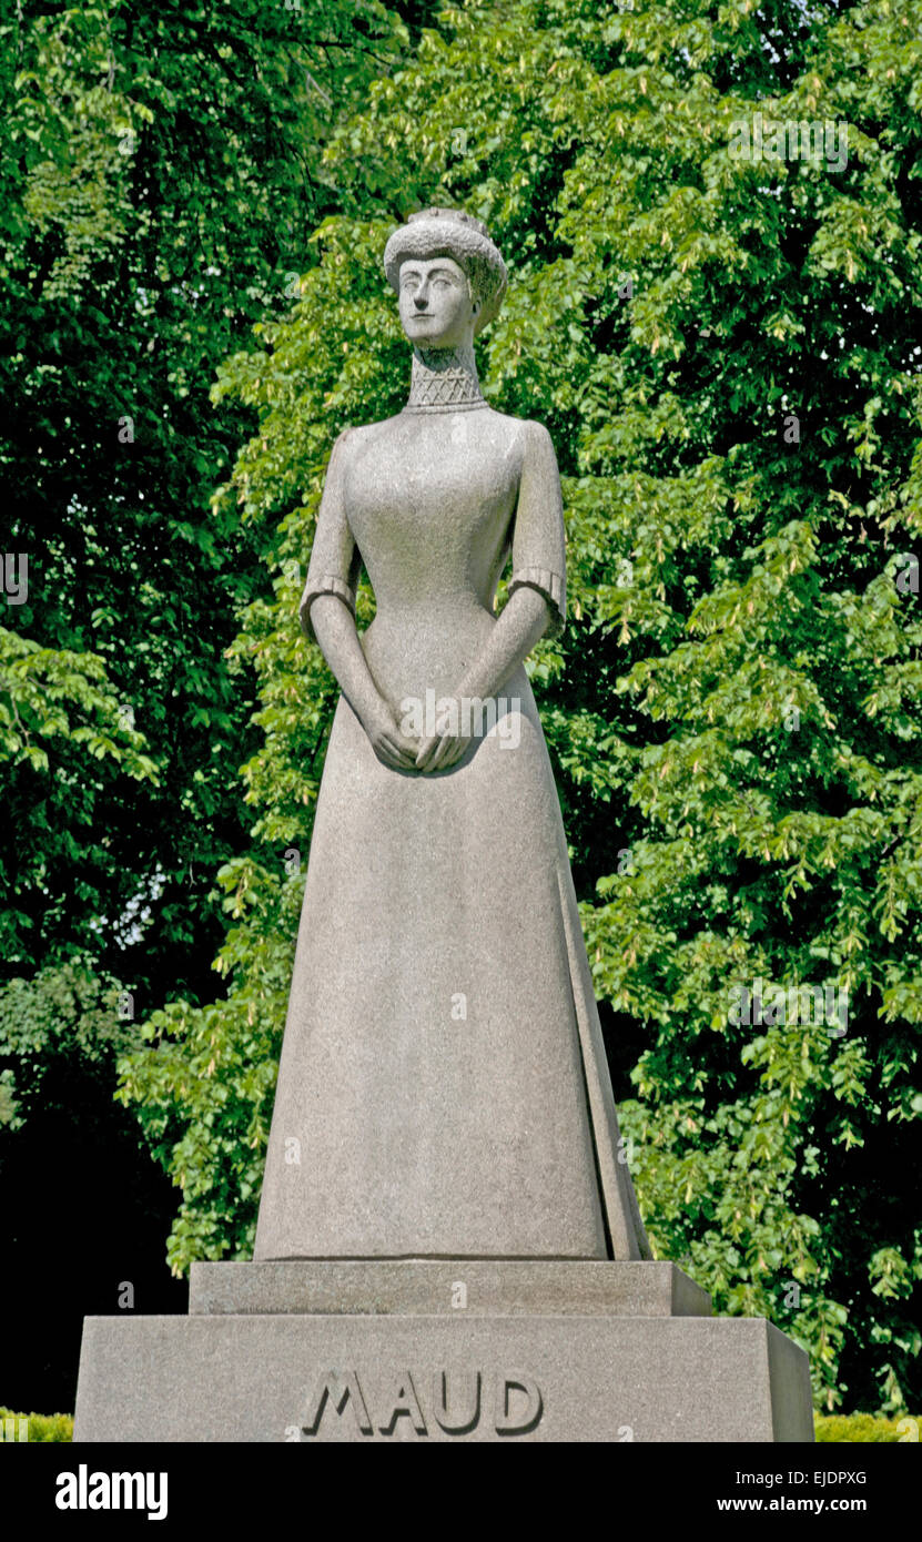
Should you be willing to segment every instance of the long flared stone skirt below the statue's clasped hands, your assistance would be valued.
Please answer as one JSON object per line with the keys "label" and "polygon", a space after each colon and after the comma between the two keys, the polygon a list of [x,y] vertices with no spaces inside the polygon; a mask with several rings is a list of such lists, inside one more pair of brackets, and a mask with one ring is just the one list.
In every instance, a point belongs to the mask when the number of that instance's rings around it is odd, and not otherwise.
{"label": "long flared stone skirt below the statue's clasped hands", "polygon": [[524,669],[464,759],[341,699],[256,1258],[640,1258],[554,774]]}

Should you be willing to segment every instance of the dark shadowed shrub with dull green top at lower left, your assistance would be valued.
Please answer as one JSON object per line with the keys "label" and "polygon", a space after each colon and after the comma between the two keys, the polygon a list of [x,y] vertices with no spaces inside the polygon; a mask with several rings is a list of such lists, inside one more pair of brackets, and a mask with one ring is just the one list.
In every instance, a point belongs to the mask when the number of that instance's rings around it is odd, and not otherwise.
{"label": "dark shadowed shrub with dull green top at lower left", "polygon": [[[139,1042],[131,1001],[74,956],[0,988],[3,1382],[26,1406],[72,1406],[85,1314],[182,1311],[162,1264],[173,1194],[113,1107],[114,1062]],[[159,1266],[159,1268],[157,1268]]]}

